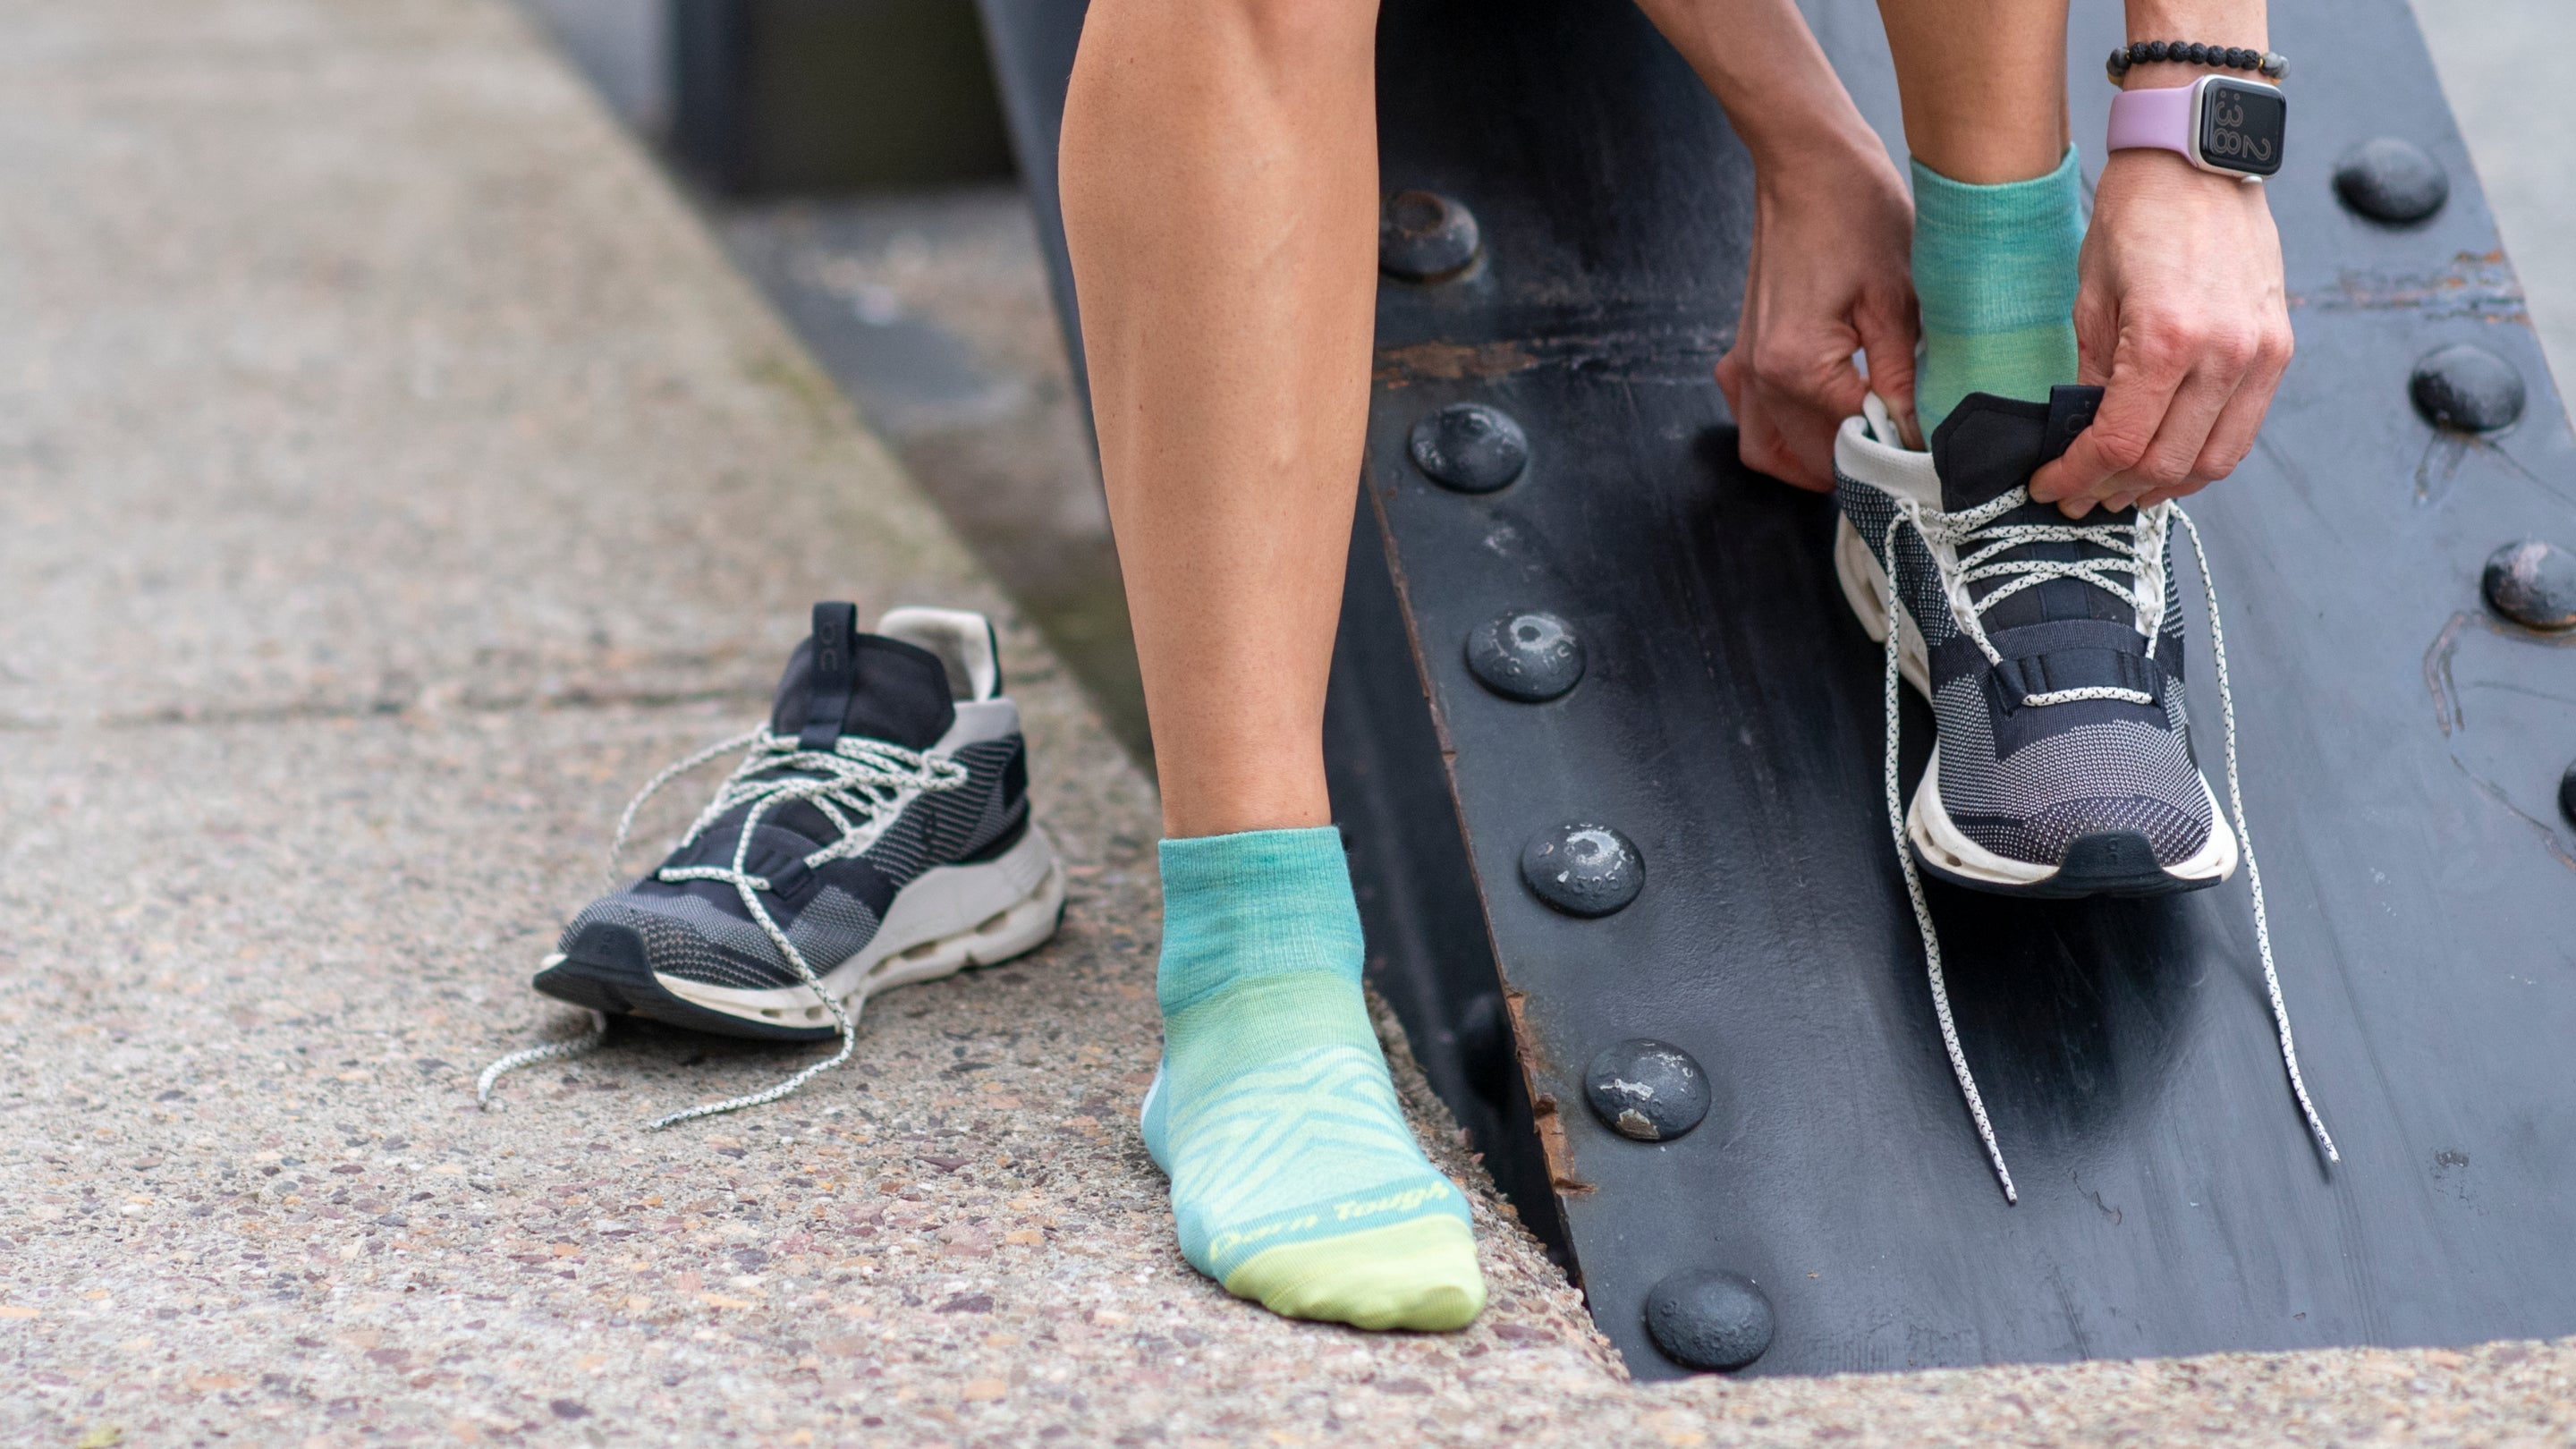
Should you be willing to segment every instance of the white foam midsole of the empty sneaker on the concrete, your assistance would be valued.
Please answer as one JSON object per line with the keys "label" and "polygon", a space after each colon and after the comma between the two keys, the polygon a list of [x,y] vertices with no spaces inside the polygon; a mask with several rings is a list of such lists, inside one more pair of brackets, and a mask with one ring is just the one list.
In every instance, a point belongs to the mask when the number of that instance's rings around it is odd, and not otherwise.
{"label": "white foam midsole of the empty sneaker on the concrete", "polygon": [[[1056,933],[1064,908],[1064,864],[1036,822],[1020,843],[989,861],[933,866],[894,895],[876,936],[822,977],[842,1008],[868,995],[966,967],[989,967],[1033,951]],[[742,990],[654,972],[662,990],[750,1021],[778,1026],[832,1026],[832,1011],[801,985]]]}

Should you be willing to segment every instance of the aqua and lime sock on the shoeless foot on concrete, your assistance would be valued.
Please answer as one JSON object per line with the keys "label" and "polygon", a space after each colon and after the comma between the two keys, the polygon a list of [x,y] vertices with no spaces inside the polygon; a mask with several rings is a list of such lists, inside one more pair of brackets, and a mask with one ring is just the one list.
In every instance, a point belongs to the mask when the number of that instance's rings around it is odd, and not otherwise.
{"label": "aqua and lime sock on the shoeless foot on concrete", "polygon": [[1340,833],[1164,841],[1162,900],[1144,1140],[1182,1256],[1288,1318],[1463,1328],[1484,1310],[1466,1196],[1396,1106]]}

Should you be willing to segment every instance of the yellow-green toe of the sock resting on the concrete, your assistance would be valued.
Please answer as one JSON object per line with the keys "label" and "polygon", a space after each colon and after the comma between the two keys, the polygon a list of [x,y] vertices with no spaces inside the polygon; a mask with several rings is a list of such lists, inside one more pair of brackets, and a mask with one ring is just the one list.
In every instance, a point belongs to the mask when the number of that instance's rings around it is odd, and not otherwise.
{"label": "yellow-green toe of the sock resting on the concrete", "polygon": [[1476,1235],[1445,1214],[1267,1248],[1226,1274],[1226,1292],[1352,1328],[1448,1333],[1484,1312]]}

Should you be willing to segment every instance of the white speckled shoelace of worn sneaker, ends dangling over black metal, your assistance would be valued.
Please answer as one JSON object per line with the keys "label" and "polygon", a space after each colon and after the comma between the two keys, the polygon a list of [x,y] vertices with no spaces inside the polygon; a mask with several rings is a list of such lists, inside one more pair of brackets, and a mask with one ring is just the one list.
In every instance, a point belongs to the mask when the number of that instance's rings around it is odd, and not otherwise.
{"label": "white speckled shoelace of worn sneaker, ends dangling over black metal", "polygon": [[[2272,967],[2272,920],[2264,915],[2262,902],[2262,866],[2254,864],[2254,835],[2246,830],[2246,799],[2236,781],[2236,696],[2228,688],[2228,639],[2226,629],[2218,624],[2218,580],[2210,575],[2210,554],[2200,547],[2200,526],[2177,503],[2166,500],[2154,508],[2141,508],[2138,521],[2130,526],[2128,539],[2117,539],[2110,529],[2071,529],[2056,523],[1996,523],[2004,513],[2012,513],[2022,503],[2030,503],[2027,487],[2014,487],[2012,492],[1984,503],[1978,508],[1963,508],[1958,513],[1940,513],[1924,508],[1914,500],[1899,500],[1899,516],[1888,523],[1888,668],[1883,686],[1886,704],[1886,794],[1888,794],[1888,828],[1896,835],[1896,864],[1906,874],[1906,897],[1914,902],[1914,926],[1924,938],[1924,967],[1932,980],[1932,1018],[1940,1024],[1942,1049],[1950,1052],[1950,1073],[1958,1078],[1960,1096],[1968,1098],[1968,1116],[1976,1119],[1976,1134],[1986,1145],[1986,1160],[1994,1163],[1996,1181],[2004,1183],[2004,1201],[2022,1201],[2012,1186],[2012,1168],[2004,1165],[2004,1150],[1994,1140],[1994,1122],[1986,1116],[1986,1098],[1976,1091],[1976,1075],[1968,1073],[1968,1052],[1958,1042],[1958,1024],[1950,1018],[1950,985],[1942,980],[1940,967],[1940,933],[1932,928],[1932,905],[1924,900],[1922,874],[1914,869],[1914,846],[1906,841],[1906,807],[1904,789],[1896,771],[1896,722],[1899,722],[1899,657],[1904,650],[1904,583],[1896,578],[1896,529],[1906,526],[1924,541],[1924,549],[1940,557],[1940,544],[1971,547],[1960,554],[1958,570],[1947,572],[1945,593],[1950,596],[1950,614],[1958,619],[1960,629],[1976,639],[1976,647],[1989,663],[2004,663],[1994,645],[1986,639],[1986,627],[1981,614],[1996,601],[2009,598],[2025,588],[2035,588],[2050,578],[2079,578],[2097,588],[2105,588],[2120,598],[2128,598],[2138,616],[2138,629],[2146,632],[2148,657],[2156,652],[2156,632],[2164,624],[2164,539],[2172,523],[2182,523],[2182,531],[2192,539],[2192,559],[2200,567],[2200,588],[2208,593],[2210,603],[2210,665],[2218,676],[2218,714],[2226,724],[2226,755],[2228,755],[2228,812],[2236,817],[2236,846],[2244,851],[2246,884],[2254,892],[2254,951],[2262,957],[2262,982],[2264,993],[2272,998],[2272,1024],[2280,1029],[2280,1062],[2290,1073],[2290,1096],[2298,1098],[2300,1116],[2308,1119],[2308,1134],[2316,1137],[2321,1152],[2329,1163],[2339,1163],[2342,1155],[2334,1150],[2334,1137],[2326,1134],[2326,1122],[2316,1114],[2316,1104],[2308,1098],[2308,1080],[2298,1070],[2298,1047],[2290,1042],[2290,1006],[2280,995],[2280,972]],[[2112,557],[2102,559],[1999,559],[2007,549],[2020,549],[2025,544],[2097,544]],[[1940,565],[1935,565],[1940,567]],[[2117,572],[2130,575],[2130,583],[2120,583]],[[1984,598],[1973,598],[1968,585],[1986,578],[2004,578],[2002,588]],[[1929,665],[1929,660],[1924,660]],[[2154,704],[2154,696],[2133,688],[2092,686],[2092,688],[2063,688],[2050,694],[2027,694],[2022,704],[2071,704],[2076,699],[2125,699],[2130,704]]]}

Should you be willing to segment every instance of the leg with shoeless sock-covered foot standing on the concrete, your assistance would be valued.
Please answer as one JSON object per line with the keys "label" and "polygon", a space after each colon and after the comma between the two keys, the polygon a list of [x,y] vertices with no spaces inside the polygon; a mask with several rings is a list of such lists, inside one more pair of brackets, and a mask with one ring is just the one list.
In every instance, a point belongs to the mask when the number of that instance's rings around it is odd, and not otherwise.
{"label": "leg with shoeless sock-covered foot standing on the concrete", "polygon": [[1324,678],[1368,423],[1376,0],[1095,0],[1064,229],[1162,766],[1162,1065],[1180,1250],[1273,1312],[1461,1328],[1466,1201],[1360,995]]}

